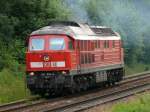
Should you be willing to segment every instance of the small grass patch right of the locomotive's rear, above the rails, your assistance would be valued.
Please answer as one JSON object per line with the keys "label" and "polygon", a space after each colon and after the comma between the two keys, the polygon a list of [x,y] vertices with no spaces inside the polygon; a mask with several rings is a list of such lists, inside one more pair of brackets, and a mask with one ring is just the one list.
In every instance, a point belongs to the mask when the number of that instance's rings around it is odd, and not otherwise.
{"label": "small grass patch right of the locomotive's rear, above the rails", "polygon": [[141,63],[134,64],[133,66],[127,66],[127,65],[125,66],[126,75],[132,75],[132,74],[136,74],[148,70],[150,70],[150,65],[145,65]]}

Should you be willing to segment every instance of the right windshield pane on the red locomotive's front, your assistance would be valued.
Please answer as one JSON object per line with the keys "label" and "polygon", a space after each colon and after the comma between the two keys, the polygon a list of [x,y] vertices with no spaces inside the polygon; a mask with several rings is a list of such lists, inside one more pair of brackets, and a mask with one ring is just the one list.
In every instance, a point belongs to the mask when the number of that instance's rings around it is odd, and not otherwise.
{"label": "right windshield pane on the red locomotive's front", "polygon": [[64,50],[65,49],[65,40],[64,38],[51,38],[49,40],[50,50]]}

